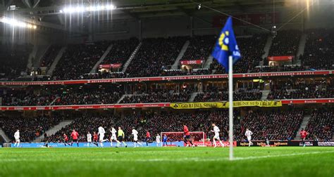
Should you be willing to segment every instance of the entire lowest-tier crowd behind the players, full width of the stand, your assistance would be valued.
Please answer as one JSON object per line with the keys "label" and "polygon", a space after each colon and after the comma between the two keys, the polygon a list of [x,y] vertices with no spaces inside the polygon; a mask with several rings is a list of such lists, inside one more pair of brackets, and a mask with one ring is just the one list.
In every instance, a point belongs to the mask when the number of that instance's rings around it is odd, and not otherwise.
{"label": "entire lowest-tier crowd behind the players, full width of the stand", "polygon": [[[309,139],[330,140],[333,136],[333,110],[313,110],[307,124]],[[254,134],[253,140],[293,140],[305,116],[303,110],[249,110],[241,116],[240,109],[234,112],[235,140],[245,140],[246,129]],[[74,118],[74,119],[73,119]],[[151,140],[161,132],[183,132],[183,124],[190,131],[204,131],[205,138],[212,138],[212,123],[221,129],[221,139],[228,140],[228,110],[194,110],[192,112],[128,112],[119,114],[84,114],[74,112],[71,116],[41,115],[28,117],[1,117],[0,127],[13,140],[13,133],[20,130],[21,141],[30,142],[42,136],[45,131],[58,124],[61,119],[73,119],[68,126],[63,127],[54,135],[46,135],[44,140],[63,142],[63,133],[68,136],[75,129],[80,134],[80,141],[87,140],[87,132],[97,132],[99,126],[106,129],[106,138],[111,137],[111,127],[118,126],[125,132],[125,140],[132,140],[131,131],[137,129],[140,140],[144,140],[146,132],[151,133]],[[196,140],[202,140],[202,134],[194,135]],[[177,134],[168,135],[170,141],[180,141],[183,137]]]}

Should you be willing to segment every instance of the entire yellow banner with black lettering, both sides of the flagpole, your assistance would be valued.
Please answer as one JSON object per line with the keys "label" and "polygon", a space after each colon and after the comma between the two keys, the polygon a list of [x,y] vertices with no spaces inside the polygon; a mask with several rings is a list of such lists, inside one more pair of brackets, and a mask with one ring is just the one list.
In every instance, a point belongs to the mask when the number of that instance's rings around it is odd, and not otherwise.
{"label": "entire yellow banner with black lettering, both sides of the flagpole", "polygon": [[[281,107],[282,101],[280,100],[262,100],[262,101],[233,101],[233,107]],[[201,109],[201,108],[228,108],[228,102],[199,102],[199,103],[171,103],[173,109]]]}

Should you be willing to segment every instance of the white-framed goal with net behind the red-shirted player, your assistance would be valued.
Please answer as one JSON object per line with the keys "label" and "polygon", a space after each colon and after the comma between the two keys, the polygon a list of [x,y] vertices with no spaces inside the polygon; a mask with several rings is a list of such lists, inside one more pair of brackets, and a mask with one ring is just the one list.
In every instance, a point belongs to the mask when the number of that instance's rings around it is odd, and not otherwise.
{"label": "white-framed goal with net behind the red-shirted player", "polygon": [[[167,145],[163,142],[163,136],[167,136]],[[161,146],[185,146],[183,132],[161,132]],[[206,146],[204,131],[190,131],[190,137],[195,146]]]}

